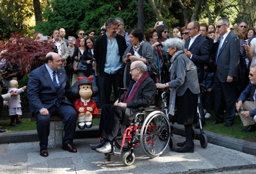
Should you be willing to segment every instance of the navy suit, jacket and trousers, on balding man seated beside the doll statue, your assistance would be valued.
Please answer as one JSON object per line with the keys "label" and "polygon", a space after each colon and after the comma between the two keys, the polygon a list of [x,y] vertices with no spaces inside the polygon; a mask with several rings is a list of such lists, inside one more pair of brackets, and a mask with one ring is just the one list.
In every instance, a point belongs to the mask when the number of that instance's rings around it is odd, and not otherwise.
{"label": "navy suit, jacket and trousers, on balding man seated beside the doll statue", "polygon": [[[46,64],[43,64],[41,67],[30,73],[27,88],[30,112],[33,112],[37,117],[37,133],[40,140],[41,150],[46,150],[48,146],[50,116],[59,116],[65,124],[63,144],[73,143],[77,120],[76,111],[74,110],[72,103],[69,102],[73,102],[73,99],[66,71],[61,68],[56,73],[60,82],[58,93],[56,93],[52,78],[46,69],[46,66]],[[65,97],[67,97],[69,101],[67,101]],[[61,101],[60,107],[54,105],[57,98]],[[49,112],[47,116],[43,116],[39,113],[39,110],[43,107]]]}

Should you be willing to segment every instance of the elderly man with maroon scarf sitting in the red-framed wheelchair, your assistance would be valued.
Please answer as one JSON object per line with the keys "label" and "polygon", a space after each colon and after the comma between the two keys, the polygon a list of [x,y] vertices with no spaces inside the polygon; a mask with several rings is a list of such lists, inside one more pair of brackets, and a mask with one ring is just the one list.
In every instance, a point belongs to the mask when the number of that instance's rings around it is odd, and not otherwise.
{"label": "elderly man with maroon scarf sitting in the red-framed wheelchair", "polygon": [[120,103],[105,104],[101,109],[98,135],[102,137],[97,144],[89,146],[99,153],[109,153],[114,150],[113,142],[117,136],[120,122],[129,125],[139,107],[149,107],[154,103],[156,84],[147,73],[147,66],[142,61],[130,65],[132,82],[128,91],[121,95]]}

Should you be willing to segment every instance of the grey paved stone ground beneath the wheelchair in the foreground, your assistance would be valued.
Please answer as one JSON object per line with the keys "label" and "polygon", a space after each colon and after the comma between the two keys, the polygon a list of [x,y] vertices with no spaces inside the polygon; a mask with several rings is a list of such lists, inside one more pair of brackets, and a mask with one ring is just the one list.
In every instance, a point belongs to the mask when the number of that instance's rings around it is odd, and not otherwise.
{"label": "grey paved stone ground beneath the wheelchair in the foreground", "polygon": [[[175,141],[185,137],[174,135]],[[76,139],[78,153],[49,149],[48,157],[39,155],[39,142],[0,144],[0,174],[252,174],[256,173],[256,157],[240,151],[208,143],[204,149],[195,140],[194,153],[176,153],[169,150],[150,159],[136,146],[135,163],[124,166],[121,157],[103,154],[89,148],[98,138]],[[228,171],[228,172],[227,172]],[[231,173],[230,173],[231,172]]]}

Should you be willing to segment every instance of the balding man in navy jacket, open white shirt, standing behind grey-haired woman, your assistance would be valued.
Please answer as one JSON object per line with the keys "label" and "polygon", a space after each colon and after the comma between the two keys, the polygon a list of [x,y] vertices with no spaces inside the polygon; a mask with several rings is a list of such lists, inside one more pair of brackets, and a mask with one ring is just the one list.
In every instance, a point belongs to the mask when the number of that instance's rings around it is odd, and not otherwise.
{"label": "balding man in navy jacket, open white shirt, standing behind grey-haired woman", "polygon": [[[197,21],[188,24],[187,29],[190,38],[185,42],[185,55],[192,60],[197,67],[197,77],[199,84],[204,80],[204,64],[210,60],[209,41],[200,34],[200,25]],[[198,103],[202,126],[205,125],[204,110],[202,103]],[[197,118],[198,120],[199,118]],[[196,129],[200,128],[199,122],[195,125]]]}

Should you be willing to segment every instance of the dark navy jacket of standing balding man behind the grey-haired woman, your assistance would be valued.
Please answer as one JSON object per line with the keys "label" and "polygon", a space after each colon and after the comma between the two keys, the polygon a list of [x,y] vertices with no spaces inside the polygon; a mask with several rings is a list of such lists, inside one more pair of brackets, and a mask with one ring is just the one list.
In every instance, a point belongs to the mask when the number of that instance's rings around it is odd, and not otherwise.
{"label": "dark navy jacket of standing balding man behind the grey-haired woman", "polygon": [[[188,49],[190,40],[191,38],[187,39],[185,42],[185,49]],[[200,84],[202,84],[204,80],[204,64],[208,63],[210,60],[208,43],[209,41],[200,34],[188,49],[188,51],[193,54],[191,60],[197,67],[197,77]]]}

